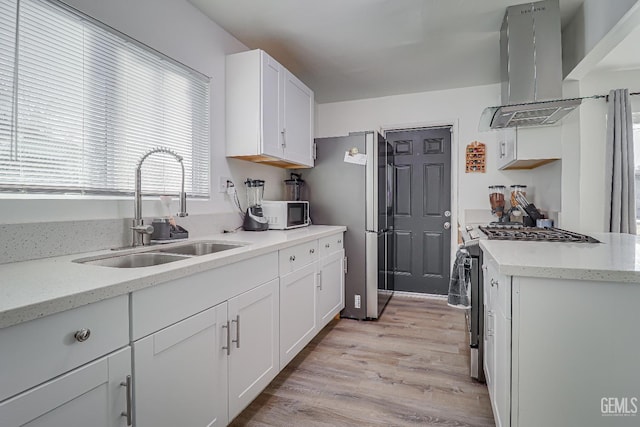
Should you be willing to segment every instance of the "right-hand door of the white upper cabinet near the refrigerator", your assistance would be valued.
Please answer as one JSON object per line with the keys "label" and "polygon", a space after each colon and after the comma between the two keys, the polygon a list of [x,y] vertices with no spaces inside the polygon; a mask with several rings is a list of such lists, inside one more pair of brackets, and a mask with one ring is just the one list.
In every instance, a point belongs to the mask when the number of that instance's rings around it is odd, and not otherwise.
{"label": "right-hand door of the white upper cabinet near the refrigerator", "polygon": [[313,92],[287,70],[284,71],[284,156],[313,166]]}

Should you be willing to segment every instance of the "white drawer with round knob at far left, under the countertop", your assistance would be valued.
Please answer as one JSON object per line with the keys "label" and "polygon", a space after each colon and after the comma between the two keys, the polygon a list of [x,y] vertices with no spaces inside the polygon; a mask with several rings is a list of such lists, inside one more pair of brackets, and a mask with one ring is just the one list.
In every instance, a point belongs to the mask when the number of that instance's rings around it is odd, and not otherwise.
{"label": "white drawer with round knob at far left, under the countertop", "polygon": [[[83,342],[82,329],[90,331]],[[128,295],[0,329],[0,401],[128,342]]]}

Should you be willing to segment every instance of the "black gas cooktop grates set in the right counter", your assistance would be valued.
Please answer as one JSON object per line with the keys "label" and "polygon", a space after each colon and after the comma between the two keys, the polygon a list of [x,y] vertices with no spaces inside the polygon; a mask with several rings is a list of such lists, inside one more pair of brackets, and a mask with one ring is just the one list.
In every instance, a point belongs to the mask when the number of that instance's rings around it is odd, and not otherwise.
{"label": "black gas cooktop grates set in the right counter", "polygon": [[490,224],[480,226],[489,240],[521,240],[534,242],[600,243],[584,234],[560,228],[524,227],[521,224]]}

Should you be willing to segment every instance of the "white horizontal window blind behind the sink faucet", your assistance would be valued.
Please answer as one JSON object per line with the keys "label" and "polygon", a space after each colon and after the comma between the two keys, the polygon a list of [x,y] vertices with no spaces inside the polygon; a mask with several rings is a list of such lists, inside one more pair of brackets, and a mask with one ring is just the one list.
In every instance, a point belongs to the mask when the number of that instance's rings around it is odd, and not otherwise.
{"label": "white horizontal window blind behind the sink faucet", "polygon": [[[0,2],[0,189],[132,194],[157,146],[208,197],[208,78],[55,1]],[[147,194],[180,181],[171,156],[143,164]]]}

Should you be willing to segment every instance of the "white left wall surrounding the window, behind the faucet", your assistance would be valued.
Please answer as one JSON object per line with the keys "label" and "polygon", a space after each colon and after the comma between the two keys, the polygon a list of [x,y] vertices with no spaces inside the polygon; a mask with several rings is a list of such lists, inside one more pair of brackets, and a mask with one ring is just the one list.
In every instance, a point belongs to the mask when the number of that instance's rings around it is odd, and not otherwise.
{"label": "white left wall surrounding the window, behind the faucet", "polygon": [[[186,0],[65,0],[70,6],[122,31],[211,79],[211,200],[190,201],[192,214],[231,212],[228,196],[216,193],[218,176],[232,176],[243,190],[247,177],[267,181],[265,196],[282,196],[285,172],[272,166],[225,158],[225,56],[247,47],[200,13]],[[133,173],[133,170],[132,172]],[[144,179],[144,177],[143,177]],[[133,190],[133,189],[132,189]],[[241,194],[241,201],[245,202]],[[177,212],[177,202],[174,210]],[[15,198],[0,199],[0,223],[126,218],[131,199]],[[159,201],[146,201],[145,216],[161,215]]]}

